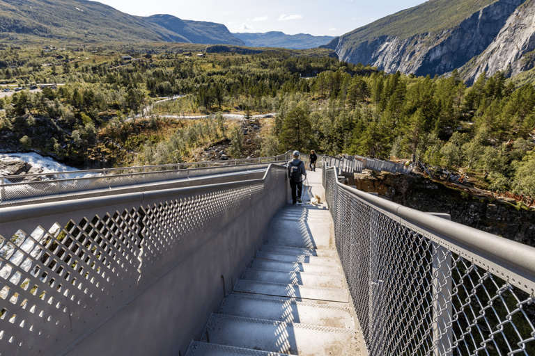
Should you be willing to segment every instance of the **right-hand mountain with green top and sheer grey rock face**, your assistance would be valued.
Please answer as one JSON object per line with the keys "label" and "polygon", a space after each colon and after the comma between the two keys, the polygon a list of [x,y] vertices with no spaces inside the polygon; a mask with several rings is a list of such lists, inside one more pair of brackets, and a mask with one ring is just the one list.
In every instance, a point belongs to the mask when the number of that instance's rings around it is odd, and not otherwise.
{"label": "right-hand mountain with green top and sheer grey rock face", "polygon": [[[498,58],[495,52],[502,42],[497,36],[504,33],[502,39],[506,38],[505,29],[513,23],[518,30],[530,22],[528,18],[515,19],[515,11],[533,7],[534,0],[525,1],[431,0],[355,29],[321,47],[333,49],[346,62],[416,75],[445,74],[471,62],[474,65],[475,58],[479,58],[477,70],[464,68],[464,79],[470,82],[471,76],[488,65],[491,54],[485,51],[495,40],[498,42],[493,54]],[[507,33],[509,44],[518,42],[516,33]]]}

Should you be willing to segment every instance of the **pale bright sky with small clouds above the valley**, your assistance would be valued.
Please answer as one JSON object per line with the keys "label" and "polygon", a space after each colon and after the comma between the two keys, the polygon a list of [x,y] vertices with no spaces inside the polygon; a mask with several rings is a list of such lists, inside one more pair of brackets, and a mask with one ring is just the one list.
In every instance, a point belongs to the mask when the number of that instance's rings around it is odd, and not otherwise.
{"label": "pale bright sky with small clouds above the valley", "polygon": [[137,16],[169,14],[229,31],[339,36],[425,0],[99,0]]}

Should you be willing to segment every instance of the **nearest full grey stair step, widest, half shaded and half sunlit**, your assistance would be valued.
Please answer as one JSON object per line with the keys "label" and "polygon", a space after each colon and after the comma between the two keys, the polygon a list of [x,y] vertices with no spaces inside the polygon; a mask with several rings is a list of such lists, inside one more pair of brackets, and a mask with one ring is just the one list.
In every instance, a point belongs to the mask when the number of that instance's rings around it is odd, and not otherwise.
{"label": "nearest full grey stair step, widest, half shaded and half sunlit", "polygon": [[289,355],[349,356],[357,351],[355,336],[355,330],[338,327],[212,314],[201,341]]}

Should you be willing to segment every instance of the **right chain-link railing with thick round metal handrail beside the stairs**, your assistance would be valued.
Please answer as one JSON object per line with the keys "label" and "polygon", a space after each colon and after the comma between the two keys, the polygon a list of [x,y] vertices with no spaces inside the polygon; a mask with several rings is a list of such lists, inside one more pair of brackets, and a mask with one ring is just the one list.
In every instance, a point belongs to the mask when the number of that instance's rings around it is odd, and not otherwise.
{"label": "right chain-link railing with thick round metal handrail beside the stairs", "polygon": [[535,248],[323,177],[369,355],[535,355]]}

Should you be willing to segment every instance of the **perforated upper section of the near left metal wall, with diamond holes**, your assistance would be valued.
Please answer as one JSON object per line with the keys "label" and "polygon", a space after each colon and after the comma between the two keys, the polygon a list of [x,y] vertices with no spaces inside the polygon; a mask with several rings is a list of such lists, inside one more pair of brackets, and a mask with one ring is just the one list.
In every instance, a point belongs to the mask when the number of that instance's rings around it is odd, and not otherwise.
{"label": "perforated upper section of the near left metal wall, with diamond holes", "polygon": [[[0,355],[59,354],[178,256],[266,195],[284,203],[285,193],[286,168],[272,166],[265,179],[72,202],[72,213],[45,206],[24,219],[33,208],[17,208],[22,220],[0,222]],[[276,210],[267,204],[263,220]]]}

